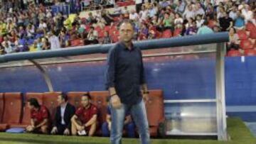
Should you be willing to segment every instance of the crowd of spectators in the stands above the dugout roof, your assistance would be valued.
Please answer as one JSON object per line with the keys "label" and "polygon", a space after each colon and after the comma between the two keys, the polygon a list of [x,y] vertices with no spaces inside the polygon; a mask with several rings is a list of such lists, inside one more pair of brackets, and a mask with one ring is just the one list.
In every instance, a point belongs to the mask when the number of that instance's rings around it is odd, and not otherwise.
{"label": "crowd of spectators in the stands above the dugout roof", "polygon": [[[256,55],[256,2],[250,0],[135,0],[136,9],[114,6],[114,13],[100,4],[113,1],[33,1],[2,4],[0,55],[54,50],[118,41],[120,21],[134,23],[134,40],[171,38],[229,31],[231,56]],[[51,6],[68,4],[70,15]],[[80,17],[83,6],[97,6],[96,13]],[[90,11],[86,9],[85,11]]]}

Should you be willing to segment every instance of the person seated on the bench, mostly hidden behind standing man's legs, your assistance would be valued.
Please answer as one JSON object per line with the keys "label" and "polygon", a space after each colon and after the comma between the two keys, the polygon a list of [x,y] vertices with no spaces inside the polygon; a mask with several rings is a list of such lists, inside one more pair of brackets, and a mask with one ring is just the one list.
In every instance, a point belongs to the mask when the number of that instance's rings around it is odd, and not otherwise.
{"label": "person seated on the bench, mostly hidden behind standing man's legs", "polygon": [[[107,99],[109,102],[109,99]],[[127,131],[127,135],[129,138],[135,137],[135,125],[132,121],[132,116],[129,114],[128,111],[125,113],[125,120],[124,120],[124,128]],[[102,136],[110,136],[111,131],[111,111],[110,105],[107,106],[107,115],[106,115],[106,122],[102,124]]]}

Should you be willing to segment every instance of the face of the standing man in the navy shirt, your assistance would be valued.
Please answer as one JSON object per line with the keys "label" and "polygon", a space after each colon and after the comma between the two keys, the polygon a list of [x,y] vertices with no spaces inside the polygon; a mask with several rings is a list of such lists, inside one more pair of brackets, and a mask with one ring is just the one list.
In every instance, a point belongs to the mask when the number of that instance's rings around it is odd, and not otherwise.
{"label": "face of the standing man in the navy shirt", "polygon": [[132,36],[134,35],[134,29],[131,23],[122,23],[119,29],[120,40],[125,43],[132,41]]}

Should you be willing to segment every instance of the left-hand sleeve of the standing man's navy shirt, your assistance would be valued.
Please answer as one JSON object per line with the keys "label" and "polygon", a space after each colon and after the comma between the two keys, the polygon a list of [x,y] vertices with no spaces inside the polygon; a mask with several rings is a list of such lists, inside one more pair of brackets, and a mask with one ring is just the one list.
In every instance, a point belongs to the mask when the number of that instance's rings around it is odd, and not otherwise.
{"label": "left-hand sleeve of the standing man's navy shirt", "polygon": [[107,70],[105,74],[106,79],[106,89],[114,87],[114,74],[115,74],[115,65],[116,65],[116,48],[110,49],[110,52],[107,55]]}

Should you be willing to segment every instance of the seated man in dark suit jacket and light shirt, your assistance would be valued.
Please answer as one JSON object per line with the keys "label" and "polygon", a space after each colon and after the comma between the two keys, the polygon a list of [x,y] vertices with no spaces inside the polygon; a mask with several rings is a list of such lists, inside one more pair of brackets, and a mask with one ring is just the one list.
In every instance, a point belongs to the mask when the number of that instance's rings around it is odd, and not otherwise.
{"label": "seated man in dark suit jacket and light shirt", "polygon": [[64,93],[58,96],[57,101],[59,106],[56,109],[51,134],[70,135],[71,118],[75,114],[75,106],[68,103],[68,96]]}

